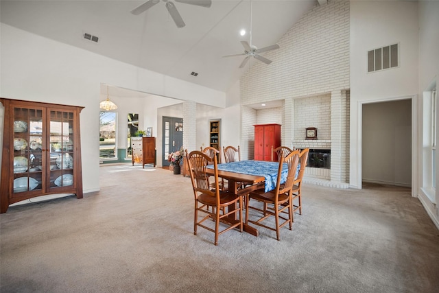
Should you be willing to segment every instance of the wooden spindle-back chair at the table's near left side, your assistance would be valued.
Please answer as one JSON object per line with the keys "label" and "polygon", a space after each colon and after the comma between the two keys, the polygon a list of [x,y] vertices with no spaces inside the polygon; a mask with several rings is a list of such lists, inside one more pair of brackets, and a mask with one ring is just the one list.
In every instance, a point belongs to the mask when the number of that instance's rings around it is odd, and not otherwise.
{"label": "wooden spindle-back chair at the table's near left side", "polygon": [[[205,228],[206,230],[215,233],[215,245],[217,245],[218,236],[222,233],[238,227],[239,231],[242,232],[242,196],[237,196],[228,191],[219,190],[216,156],[213,157],[215,189],[210,188],[209,179],[206,174],[206,166],[209,165],[211,157],[198,150],[194,150],[190,154],[188,154],[186,150],[186,156],[187,163],[189,163],[189,174],[191,175],[193,194],[195,196],[193,234],[197,235],[198,226]],[[200,219],[199,213],[202,213]],[[229,216],[237,218],[238,215],[239,221],[221,221]],[[208,226],[207,223],[209,222],[204,223],[209,219],[212,219],[215,222],[215,228],[212,228],[212,225]],[[222,225],[225,224],[228,226],[222,231],[219,231],[220,221],[222,222]]]}

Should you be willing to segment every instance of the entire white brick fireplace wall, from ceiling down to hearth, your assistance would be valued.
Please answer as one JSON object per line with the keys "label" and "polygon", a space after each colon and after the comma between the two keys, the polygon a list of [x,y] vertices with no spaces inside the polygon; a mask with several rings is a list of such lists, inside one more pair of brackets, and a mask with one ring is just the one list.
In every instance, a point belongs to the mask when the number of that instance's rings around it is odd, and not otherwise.
{"label": "entire white brick fireplace wall, from ceiling down to hearth", "polygon": [[[282,144],[296,148],[331,148],[331,171],[309,170],[327,186],[346,187],[348,180],[349,121],[349,1],[329,0],[316,5],[278,41],[280,49],[254,62],[240,80],[242,142],[252,159],[252,125],[282,124]],[[281,121],[272,111],[259,112],[245,105],[283,99]],[[250,124],[251,123],[251,124]],[[318,128],[318,141],[305,140],[305,128]],[[245,131],[244,131],[245,130]],[[251,150],[250,150],[251,148]],[[333,173],[334,166],[334,173]],[[332,181],[333,180],[333,181]],[[320,181],[318,184],[322,185]]]}

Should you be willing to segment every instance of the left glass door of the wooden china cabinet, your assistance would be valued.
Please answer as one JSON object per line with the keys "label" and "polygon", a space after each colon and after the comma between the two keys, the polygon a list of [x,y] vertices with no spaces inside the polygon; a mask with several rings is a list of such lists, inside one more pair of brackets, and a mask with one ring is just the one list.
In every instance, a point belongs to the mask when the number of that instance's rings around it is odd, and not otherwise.
{"label": "left glass door of the wooden china cabinet", "polygon": [[13,194],[43,189],[43,108],[14,107]]}

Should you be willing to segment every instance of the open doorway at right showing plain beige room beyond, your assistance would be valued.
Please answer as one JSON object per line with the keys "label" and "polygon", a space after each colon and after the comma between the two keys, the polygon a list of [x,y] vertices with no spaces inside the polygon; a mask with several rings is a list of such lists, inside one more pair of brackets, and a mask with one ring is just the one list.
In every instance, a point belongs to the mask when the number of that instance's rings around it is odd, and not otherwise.
{"label": "open doorway at right showing plain beige room beyond", "polygon": [[363,104],[362,182],[412,187],[412,99]]}

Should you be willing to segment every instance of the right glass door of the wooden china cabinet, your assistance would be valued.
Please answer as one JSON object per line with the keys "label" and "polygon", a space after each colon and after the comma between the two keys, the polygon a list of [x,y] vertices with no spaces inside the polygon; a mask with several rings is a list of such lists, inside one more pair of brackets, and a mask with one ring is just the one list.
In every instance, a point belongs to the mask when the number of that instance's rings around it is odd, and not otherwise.
{"label": "right glass door of the wooden china cabinet", "polygon": [[49,110],[46,145],[49,188],[73,185],[73,117],[74,113],[65,110]]}

